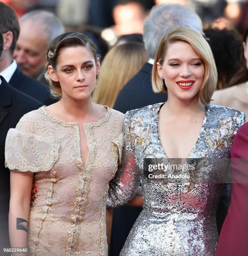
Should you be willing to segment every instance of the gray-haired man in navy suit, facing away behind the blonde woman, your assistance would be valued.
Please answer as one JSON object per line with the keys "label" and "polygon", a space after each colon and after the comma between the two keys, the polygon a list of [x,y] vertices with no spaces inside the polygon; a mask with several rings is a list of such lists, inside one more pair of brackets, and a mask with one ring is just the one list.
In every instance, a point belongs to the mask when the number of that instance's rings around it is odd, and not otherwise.
{"label": "gray-haired man in navy suit, facing away behind the blonde woman", "polygon": [[128,110],[167,100],[167,94],[153,92],[151,71],[161,39],[168,31],[178,27],[192,28],[203,34],[199,16],[182,5],[160,5],[151,10],[143,30],[145,49],[150,59],[140,72],[124,85],[115,101],[114,109],[126,113]]}

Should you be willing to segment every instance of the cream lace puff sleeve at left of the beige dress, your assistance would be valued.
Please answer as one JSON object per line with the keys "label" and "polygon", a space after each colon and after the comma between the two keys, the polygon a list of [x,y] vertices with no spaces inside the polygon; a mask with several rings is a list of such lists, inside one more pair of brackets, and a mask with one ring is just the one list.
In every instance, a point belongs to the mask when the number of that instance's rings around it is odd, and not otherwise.
{"label": "cream lace puff sleeve at left of the beige dress", "polygon": [[19,172],[45,172],[58,160],[59,141],[34,133],[35,122],[25,115],[15,129],[8,131],[5,141],[5,167]]}

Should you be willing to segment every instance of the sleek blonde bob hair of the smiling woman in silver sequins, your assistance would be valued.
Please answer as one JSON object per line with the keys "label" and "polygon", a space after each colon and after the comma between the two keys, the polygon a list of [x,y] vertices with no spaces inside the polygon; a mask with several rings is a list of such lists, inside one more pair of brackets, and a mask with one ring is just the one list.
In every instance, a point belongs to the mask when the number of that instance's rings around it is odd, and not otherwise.
{"label": "sleek blonde bob hair of the smiling woman in silver sequins", "polygon": [[[213,58],[213,53],[210,49],[208,42],[202,35],[195,32],[190,28],[179,27],[165,34],[162,38],[158,51],[155,56],[153,71],[152,71],[152,84],[155,93],[167,92],[164,80],[162,81],[158,75],[158,62],[163,66],[167,49],[170,44],[182,41],[190,44],[205,66],[205,74],[203,77],[203,84],[200,87],[199,99],[204,105],[208,105],[215,90],[218,81],[217,69]],[[161,86],[163,83],[163,86]]]}

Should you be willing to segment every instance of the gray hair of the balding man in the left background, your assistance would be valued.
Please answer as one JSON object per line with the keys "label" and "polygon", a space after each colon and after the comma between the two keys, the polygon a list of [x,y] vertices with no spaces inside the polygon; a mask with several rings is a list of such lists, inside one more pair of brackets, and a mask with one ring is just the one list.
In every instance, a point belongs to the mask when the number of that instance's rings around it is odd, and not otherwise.
{"label": "gray hair of the balding man in the left background", "polygon": [[61,21],[53,14],[45,10],[33,10],[24,14],[20,18],[20,22],[25,20],[38,21],[48,33],[48,44],[57,36],[65,32],[65,28]]}

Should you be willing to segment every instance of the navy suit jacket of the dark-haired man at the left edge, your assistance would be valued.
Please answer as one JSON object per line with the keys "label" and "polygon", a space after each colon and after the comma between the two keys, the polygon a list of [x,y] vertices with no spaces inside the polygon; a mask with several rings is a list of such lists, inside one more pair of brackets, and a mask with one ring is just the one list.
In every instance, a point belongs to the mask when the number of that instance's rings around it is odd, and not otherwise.
{"label": "navy suit jacket of the dark-haired man at the left edge", "polygon": [[43,105],[51,105],[58,100],[55,100],[50,95],[50,89],[45,84],[26,76],[20,69],[16,69],[10,79],[9,84],[15,89],[24,92],[30,97],[43,103]]}

